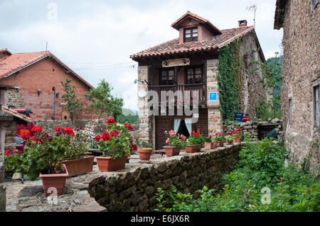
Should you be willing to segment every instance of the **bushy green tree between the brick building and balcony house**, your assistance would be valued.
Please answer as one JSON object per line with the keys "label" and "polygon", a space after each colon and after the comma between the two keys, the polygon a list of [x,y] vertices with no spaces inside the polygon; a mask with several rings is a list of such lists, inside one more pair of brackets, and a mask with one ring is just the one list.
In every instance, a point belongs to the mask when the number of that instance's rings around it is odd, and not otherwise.
{"label": "bushy green tree between the brick building and balcony house", "polygon": [[95,111],[99,118],[102,113],[107,113],[117,120],[117,116],[122,113],[123,99],[112,96],[112,89],[112,86],[103,79],[100,80],[97,88],[87,92],[85,97],[91,101],[89,111]]}

